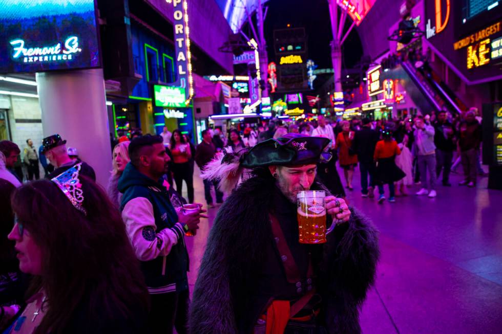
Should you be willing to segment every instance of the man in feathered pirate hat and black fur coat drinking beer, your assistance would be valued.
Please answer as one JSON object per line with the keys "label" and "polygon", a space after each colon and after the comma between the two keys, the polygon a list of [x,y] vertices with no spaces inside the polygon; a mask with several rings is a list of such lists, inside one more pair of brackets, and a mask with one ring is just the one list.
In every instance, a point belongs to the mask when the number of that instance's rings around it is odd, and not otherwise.
{"label": "man in feathered pirate hat and black fur coat drinking beer", "polygon": [[359,307],[379,257],[375,228],[327,194],[327,226],[336,224],[327,242],[299,242],[297,194],[325,190],[316,164],[329,159],[328,144],[288,133],[211,163],[217,172],[208,177],[220,177],[227,190],[244,169],[252,176],[215,218],[193,294],[192,333],[361,332]]}

